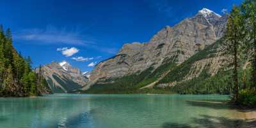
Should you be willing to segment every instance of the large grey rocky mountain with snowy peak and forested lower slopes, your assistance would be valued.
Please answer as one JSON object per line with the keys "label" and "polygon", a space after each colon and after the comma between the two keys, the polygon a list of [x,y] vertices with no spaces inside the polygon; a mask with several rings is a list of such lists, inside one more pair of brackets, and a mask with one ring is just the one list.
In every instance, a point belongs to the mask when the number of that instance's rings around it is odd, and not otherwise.
{"label": "large grey rocky mountain with snowy peak and forested lower slopes", "polygon": [[[203,8],[194,17],[173,27],[164,27],[147,43],[127,43],[114,57],[95,66],[83,90],[134,92],[173,87],[198,78],[202,73],[214,76],[225,60],[218,40],[225,31],[227,18],[228,15],[221,16]],[[166,78],[169,76],[173,78]]]}

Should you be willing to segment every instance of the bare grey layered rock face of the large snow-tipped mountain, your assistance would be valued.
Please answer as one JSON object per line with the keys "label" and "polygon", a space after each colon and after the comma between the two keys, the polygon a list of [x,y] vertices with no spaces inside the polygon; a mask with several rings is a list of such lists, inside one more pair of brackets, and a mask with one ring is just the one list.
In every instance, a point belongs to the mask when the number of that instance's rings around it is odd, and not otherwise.
{"label": "bare grey layered rock face of the large snow-tipped mountain", "polygon": [[[164,27],[147,43],[127,43],[114,57],[95,66],[90,73],[90,82],[83,87],[83,90],[89,89],[95,83],[109,82],[113,78],[141,73],[151,67],[154,71],[163,66],[166,60],[175,62],[177,66],[182,65],[193,55],[221,38],[225,31],[227,18],[227,15],[221,16],[203,8],[195,17],[186,18],[173,27]],[[209,63],[215,67],[211,69],[214,75],[220,68],[220,62],[220,57],[198,60],[191,68],[195,71],[189,71],[184,80],[199,75],[202,67]],[[167,74],[164,73],[164,75]],[[164,76],[162,75],[161,78]],[[173,85],[173,83],[170,84]]]}

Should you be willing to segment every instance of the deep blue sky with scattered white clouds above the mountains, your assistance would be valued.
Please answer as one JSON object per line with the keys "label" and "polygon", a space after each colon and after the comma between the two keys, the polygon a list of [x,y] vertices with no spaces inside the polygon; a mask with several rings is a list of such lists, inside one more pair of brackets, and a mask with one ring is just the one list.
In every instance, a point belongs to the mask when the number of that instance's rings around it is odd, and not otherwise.
{"label": "deep blue sky with scattered white clouds above the mountains", "polygon": [[221,14],[242,0],[2,0],[0,23],[10,27],[15,48],[33,67],[67,60],[90,71],[124,43],[147,42],[202,8]]}

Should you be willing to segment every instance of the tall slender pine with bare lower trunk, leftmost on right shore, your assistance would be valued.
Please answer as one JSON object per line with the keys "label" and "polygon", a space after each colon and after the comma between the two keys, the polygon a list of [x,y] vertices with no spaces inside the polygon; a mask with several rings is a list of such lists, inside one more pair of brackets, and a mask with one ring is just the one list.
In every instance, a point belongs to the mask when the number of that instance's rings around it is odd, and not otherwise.
{"label": "tall slender pine with bare lower trunk, leftmost on right shore", "polygon": [[241,41],[243,36],[242,17],[240,10],[234,6],[227,21],[227,30],[223,36],[225,52],[232,61],[232,80],[233,80],[233,93],[234,102],[237,102],[239,95],[238,85],[238,69],[239,69],[239,53],[241,50]]}

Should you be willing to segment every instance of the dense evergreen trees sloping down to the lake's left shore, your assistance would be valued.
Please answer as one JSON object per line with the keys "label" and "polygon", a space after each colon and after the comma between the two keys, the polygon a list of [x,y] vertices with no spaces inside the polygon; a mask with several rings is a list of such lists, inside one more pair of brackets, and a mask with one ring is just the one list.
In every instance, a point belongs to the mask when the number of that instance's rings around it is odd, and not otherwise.
{"label": "dense evergreen trees sloping down to the lake's left shore", "polygon": [[41,71],[31,69],[30,57],[22,57],[12,44],[10,29],[0,26],[0,97],[39,96],[47,89]]}

